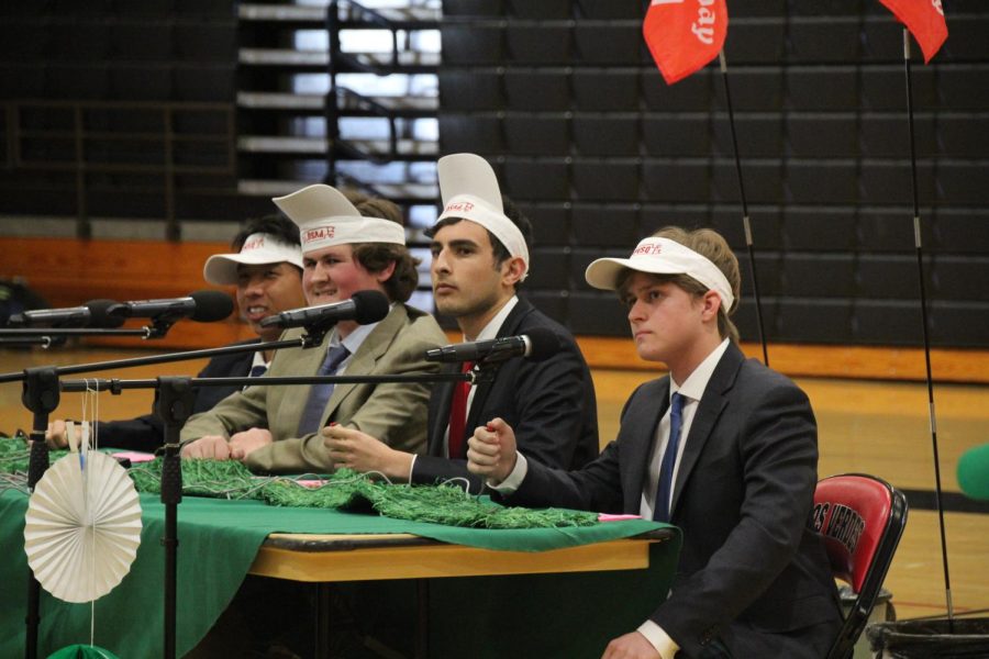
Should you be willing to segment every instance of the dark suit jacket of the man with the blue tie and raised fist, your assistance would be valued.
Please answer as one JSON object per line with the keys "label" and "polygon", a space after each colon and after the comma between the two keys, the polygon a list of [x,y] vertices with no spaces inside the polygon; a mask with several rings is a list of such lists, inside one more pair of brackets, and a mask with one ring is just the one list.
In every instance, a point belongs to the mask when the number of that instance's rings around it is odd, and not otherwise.
{"label": "dark suit jacket of the man with the blue tie and raised fist", "polygon": [[[618,438],[581,471],[529,462],[513,504],[637,514],[669,377],[640,387]],[[524,449],[522,449],[524,454]],[[697,657],[720,637],[735,657],[824,657],[841,626],[821,539],[809,526],[816,424],[790,380],[729,346],[687,436],[671,502],[684,532],[669,599],[649,616]],[[679,655],[678,655],[679,656]]]}

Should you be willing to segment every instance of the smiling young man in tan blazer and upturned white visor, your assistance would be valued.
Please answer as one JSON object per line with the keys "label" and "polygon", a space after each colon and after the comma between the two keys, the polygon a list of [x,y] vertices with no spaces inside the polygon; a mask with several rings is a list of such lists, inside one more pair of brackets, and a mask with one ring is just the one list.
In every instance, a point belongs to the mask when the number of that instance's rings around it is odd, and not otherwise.
{"label": "smiling young man in tan blazer and upturned white visor", "polygon": [[[435,372],[437,365],[426,362],[424,353],[446,337],[431,315],[405,304],[418,282],[416,260],[405,247],[397,208],[365,202],[362,215],[343,193],[322,185],[275,203],[300,226],[302,287],[310,305],[378,290],[390,309],[379,323],[337,323],[319,348],[279,350],[268,375]],[[284,338],[301,333],[290,330]],[[237,459],[262,472],[329,472],[335,465],[319,434],[329,423],[373,434],[401,450],[425,448],[429,384],[336,384],[324,401],[318,400],[316,389],[257,386],[231,395],[188,421],[182,457]]]}

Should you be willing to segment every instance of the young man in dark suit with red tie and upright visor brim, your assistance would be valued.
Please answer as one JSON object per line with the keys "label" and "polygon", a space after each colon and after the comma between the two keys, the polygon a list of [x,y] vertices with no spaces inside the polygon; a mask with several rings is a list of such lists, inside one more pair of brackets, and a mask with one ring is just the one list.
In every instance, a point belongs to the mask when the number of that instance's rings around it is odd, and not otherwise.
{"label": "young man in dark suit with red tie and upright visor brim", "polygon": [[[540,328],[556,335],[559,350],[537,362],[505,360],[493,381],[476,387],[434,384],[426,455],[398,451],[338,426],[323,429],[325,445],[338,465],[392,482],[452,481],[477,492],[481,482],[467,471],[467,438],[479,423],[501,416],[516,424],[519,444],[534,460],[577,469],[598,455],[593,383],[573,335],[515,294],[529,271],[529,220],[502,199],[484,158],[446,156],[437,172],[444,209],[426,232],[437,311],[456,319],[468,342]],[[459,364],[445,368],[459,370]]]}

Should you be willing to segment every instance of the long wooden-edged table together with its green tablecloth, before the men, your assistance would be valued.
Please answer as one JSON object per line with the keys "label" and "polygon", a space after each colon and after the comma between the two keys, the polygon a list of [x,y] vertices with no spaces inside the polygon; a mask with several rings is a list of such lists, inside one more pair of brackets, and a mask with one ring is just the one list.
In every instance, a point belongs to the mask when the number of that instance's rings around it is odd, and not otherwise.
{"label": "long wooden-edged table together with its green tablecloth, before the men", "polygon": [[[123,582],[107,596],[96,602],[96,645],[105,647],[121,657],[152,657],[160,655],[163,647],[162,621],[164,596],[162,592],[164,550],[160,538],[164,533],[164,506],[155,495],[141,495],[143,509],[142,544],[137,551],[137,559],[132,566],[131,573]],[[18,657],[23,655],[24,613],[26,611],[26,559],[23,552],[23,525],[26,510],[26,496],[16,491],[0,493],[0,657]],[[613,608],[613,616],[621,618],[619,633],[627,632],[630,624],[634,627],[640,619],[651,613],[656,600],[666,593],[669,576],[676,565],[679,549],[679,538],[667,543],[630,541],[632,546],[648,547],[647,570],[619,569],[609,571],[584,572],[579,574],[519,574],[519,571],[538,571],[541,569],[565,569],[556,555],[556,558],[546,558],[540,550],[549,549],[556,551],[576,551],[576,555],[587,551],[587,557],[597,554],[597,550],[581,549],[584,545],[602,543],[611,545],[620,538],[638,535],[646,530],[655,530],[659,525],[646,521],[613,522],[599,524],[590,528],[565,529],[538,529],[538,530],[488,530],[465,529],[446,527],[437,524],[415,523],[401,520],[391,520],[376,515],[346,513],[334,510],[311,509],[279,509],[268,506],[256,501],[225,501],[218,499],[201,499],[186,496],[178,510],[179,521],[179,548],[178,548],[178,638],[179,654],[188,651],[201,639],[213,625],[220,613],[227,606],[244,576],[252,570],[264,573],[267,570],[302,570],[322,579],[325,574],[316,571],[312,563],[320,552],[302,551],[319,547],[326,538],[319,534],[334,536],[332,541],[337,543],[332,552],[333,563],[342,566],[340,561],[371,560],[371,556],[388,551],[392,554],[390,572],[388,577],[418,578],[415,571],[422,570],[448,570],[451,574],[485,574],[484,563],[488,570],[502,560],[504,566],[498,568],[500,577],[465,577],[463,579],[432,579],[430,583],[430,639],[433,656],[444,656],[449,647],[458,643],[467,643],[470,638],[494,638],[497,630],[486,628],[485,607],[490,612],[504,608],[504,602],[512,599],[523,600],[513,603],[510,611],[500,611],[499,615],[508,615],[522,621],[543,619],[540,630],[546,634],[558,634],[571,624],[579,613],[569,612],[567,608],[575,602],[586,596],[598,596],[607,600],[609,608]],[[279,534],[307,534],[304,539],[286,538]],[[316,534],[313,536],[312,534]],[[370,536],[369,538],[353,538],[338,536]],[[407,534],[396,535],[396,534]],[[386,546],[369,547],[366,541],[380,543],[379,536],[389,536]],[[418,536],[413,538],[411,536]],[[431,539],[423,539],[431,538]],[[359,540],[359,541],[358,541]],[[289,543],[286,545],[285,543]],[[296,543],[292,545],[292,543]],[[299,544],[301,543],[301,544]],[[343,543],[343,544],[341,544]],[[449,547],[446,545],[484,546],[487,549],[470,549],[468,547]],[[621,543],[621,540],[619,540]],[[391,545],[391,546],[387,546]],[[432,545],[432,546],[431,546]],[[493,551],[493,549],[514,549],[525,546],[532,551],[522,554],[524,558],[516,560],[522,563],[510,568],[509,557],[498,557],[499,554],[518,554],[515,551]],[[612,545],[613,546],[613,545]],[[619,544],[618,546],[623,546]],[[344,547],[359,547],[353,551],[341,551]],[[556,548],[554,548],[556,547]],[[602,547],[607,555],[612,550]],[[288,554],[286,554],[288,551]],[[304,556],[309,554],[310,556]],[[619,554],[615,550],[615,554]],[[327,552],[323,551],[323,556]],[[433,559],[423,558],[432,555]],[[471,558],[473,556],[473,558]],[[551,554],[551,556],[553,556]],[[270,567],[274,557],[280,557],[276,563],[279,568]],[[466,557],[466,558],[465,558]],[[291,558],[291,560],[289,560]],[[599,556],[592,560],[604,561],[607,557]],[[430,561],[435,562],[430,567]],[[611,559],[607,559],[611,560]],[[297,562],[298,561],[298,562]],[[467,561],[462,563],[460,561]],[[471,566],[473,561],[473,567]],[[569,565],[569,560],[566,561]],[[291,568],[296,563],[295,568]],[[531,568],[526,568],[529,563]],[[548,563],[548,565],[547,565]],[[446,567],[444,567],[444,565]],[[603,563],[598,563],[603,565]],[[642,567],[642,562],[638,567]],[[381,561],[380,566],[388,566]],[[453,572],[454,569],[462,570]],[[330,570],[330,567],[324,569]],[[336,569],[336,568],[333,568]],[[342,569],[342,568],[340,568]],[[356,569],[351,566],[351,569]],[[589,563],[588,569],[602,570]],[[285,578],[289,572],[286,572]],[[299,572],[297,572],[298,574]],[[353,572],[357,576],[358,572]],[[385,573],[379,572],[379,576]],[[341,578],[337,573],[336,579]],[[329,581],[327,581],[329,583]],[[607,593],[634,590],[640,584],[646,584],[648,597],[652,604],[638,603],[631,606],[634,597],[615,599],[607,596]],[[664,585],[666,584],[666,585]],[[659,593],[657,597],[657,593]],[[599,596],[600,594],[600,596]],[[558,604],[547,604],[558,601]],[[448,629],[441,621],[446,619],[446,610],[454,613],[463,613],[464,603],[467,602],[471,610],[478,610],[481,622],[474,625],[462,625],[456,629]],[[552,606],[558,615],[547,616],[546,611]],[[40,652],[42,656],[75,643],[87,643],[90,628],[90,605],[66,604],[54,600],[47,593],[43,593],[42,622],[40,628]],[[438,616],[438,617],[437,617]],[[499,619],[491,616],[491,619]],[[629,621],[635,621],[630,623]],[[603,628],[614,628],[614,625],[602,625]],[[600,639],[587,639],[584,630],[580,638],[587,644],[599,644]],[[466,640],[465,640],[466,639]],[[603,647],[603,646],[600,646]],[[499,643],[490,645],[492,652],[502,649]],[[552,655],[552,652],[551,652]],[[451,655],[447,655],[451,656]],[[498,655],[491,655],[498,656]],[[510,652],[501,652],[502,657],[512,656]]]}

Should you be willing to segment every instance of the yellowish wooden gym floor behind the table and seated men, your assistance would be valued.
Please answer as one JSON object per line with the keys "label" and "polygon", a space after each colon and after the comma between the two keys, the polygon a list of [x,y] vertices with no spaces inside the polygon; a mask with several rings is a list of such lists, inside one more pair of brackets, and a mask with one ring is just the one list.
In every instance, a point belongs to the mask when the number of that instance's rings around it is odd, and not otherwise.
{"label": "yellowish wooden gym floor behind the table and seated men", "polygon": [[[0,372],[31,366],[66,366],[145,356],[147,351],[75,349],[59,353],[0,349]],[[151,378],[195,375],[204,364],[187,361],[92,373],[93,377]],[[618,428],[622,404],[641,382],[658,373],[596,369],[602,444]],[[80,376],[74,376],[74,378]],[[911,510],[886,588],[899,618],[938,616],[946,612],[937,514],[933,510],[934,460],[922,383],[801,378],[818,416],[821,477],[858,471],[887,479],[905,490]],[[956,615],[989,608],[989,577],[979,568],[989,556],[989,503],[973,503],[958,493],[955,467],[967,448],[989,442],[989,386],[936,384],[934,398],[952,594]],[[30,428],[31,414],[21,405],[20,383],[0,384],[0,431]],[[101,394],[99,416],[125,418],[146,413],[152,394],[125,391]],[[81,395],[65,394],[53,417],[82,416]],[[968,512],[963,512],[963,511]]]}

